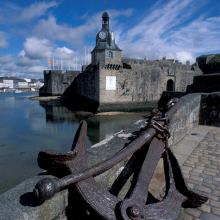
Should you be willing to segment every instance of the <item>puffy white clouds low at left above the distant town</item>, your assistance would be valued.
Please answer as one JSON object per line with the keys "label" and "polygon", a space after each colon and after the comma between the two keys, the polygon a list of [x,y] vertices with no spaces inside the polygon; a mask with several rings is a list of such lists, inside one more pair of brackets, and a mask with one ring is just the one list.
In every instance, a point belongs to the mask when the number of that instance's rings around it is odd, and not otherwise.
{"label": "puffy white clouds low at left above the distant town", "polygon": [[0,75],[42,78],[49,57],[54,57],[56,68],[60,68],[62,62],[66,69],[74,58],[80,59],[80,55],[70,48],[57,47],[46,39],[30,37],[25,40],[24,48],[16,56],[0,56]]}

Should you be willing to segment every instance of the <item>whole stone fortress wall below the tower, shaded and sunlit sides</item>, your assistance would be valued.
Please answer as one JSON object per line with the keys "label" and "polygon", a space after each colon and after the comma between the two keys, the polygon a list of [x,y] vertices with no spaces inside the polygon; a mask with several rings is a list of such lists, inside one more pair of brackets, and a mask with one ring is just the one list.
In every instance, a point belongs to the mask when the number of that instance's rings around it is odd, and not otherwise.
{"label": "whole stone fortress wall below the tower, shaded and sunlit sides", "polygon": [[[100,105],[109,103],[138,103],[158,101],[163,91],[186,91],[193,81],[193,76],[200,73],[196,65],[181,64],[176,60],[138,60],[122,59],[123,67],[101,67],[89,65],[78,77],[77,74],[62,74],[59,71],[45,71],[45,86],[40,94],[61,95],[70,87],[74,80],[74,89],[68,96],[77,93],[98,102]],[[115,77],[115,88],[107,89],[107,77]],[[169,82],[169,83],[168,83]],[[72,85],[71,85],[72,86]],[[69,99],[71,100],[71,99]]]}

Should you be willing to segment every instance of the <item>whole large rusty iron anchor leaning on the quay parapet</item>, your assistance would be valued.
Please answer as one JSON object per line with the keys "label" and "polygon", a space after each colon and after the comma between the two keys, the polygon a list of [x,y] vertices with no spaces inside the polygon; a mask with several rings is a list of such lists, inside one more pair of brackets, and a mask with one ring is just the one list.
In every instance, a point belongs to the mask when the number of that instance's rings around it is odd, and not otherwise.
{"label": "whole large rusty iron anchor leaning on the quay parapet", "polygon": [[[168,220],[176,219],[181,206],[201,206],[207,197],[188,189],[178,161],[168,147],[168,121],[178,108],[178,103],[172,107],[176,102],[168,103],[166,115],[153,111],[147,127],[135,140],[113,157],[90,168],[87,167],[85,150],[87,124],[82,121],[71,151],[66,154],[39,153],[39,166],[55,177],[40,180],[33,190],[35,196],[44,201],[64,188],[74,187],[84,201],[85,209],[89,210],[88,219],[94,219],[91,217],[93,213],[95,219]],[[95,176],[128,157],[126,166],[109,190],[95,181]],[[164,197],[158,200],[148,192],[148,188],[160,158],[164,164],[166,189]],[[120,190],[132,175],[127,194],[123,199],[119,198]]]}

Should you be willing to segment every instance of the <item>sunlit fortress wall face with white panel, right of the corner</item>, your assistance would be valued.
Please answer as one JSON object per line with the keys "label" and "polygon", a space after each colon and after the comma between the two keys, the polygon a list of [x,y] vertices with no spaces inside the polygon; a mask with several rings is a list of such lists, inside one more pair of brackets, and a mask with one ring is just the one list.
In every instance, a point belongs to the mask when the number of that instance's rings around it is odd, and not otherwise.
{"label": "sunlit fortress wall face with white panel, right of the corner", "polygon": [[[139,61],[130,66],[131,69],[100,69],[101,104],[158,101],[162,92],[168,89],[168,81],[171,81],[171,90],[185,92],[197,74],[190,65],[179,63]],[[107,89],[108,77],[115,77],[112,89]]]}

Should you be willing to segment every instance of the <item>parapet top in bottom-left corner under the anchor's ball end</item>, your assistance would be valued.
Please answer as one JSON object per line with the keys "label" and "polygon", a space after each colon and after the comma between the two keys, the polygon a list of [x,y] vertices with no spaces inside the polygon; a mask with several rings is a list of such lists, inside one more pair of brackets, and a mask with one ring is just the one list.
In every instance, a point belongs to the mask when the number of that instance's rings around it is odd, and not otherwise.
{"label": "parapet top in bottom-left corner under the anchor's ball end", "polygon": [[30,178],[3,193],[0,196],[0,220],[49,220],[62,216],[68,204],[67,190],[56,194],[40,206],[31,196],[33,186],[44,177]]}

